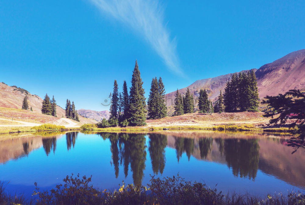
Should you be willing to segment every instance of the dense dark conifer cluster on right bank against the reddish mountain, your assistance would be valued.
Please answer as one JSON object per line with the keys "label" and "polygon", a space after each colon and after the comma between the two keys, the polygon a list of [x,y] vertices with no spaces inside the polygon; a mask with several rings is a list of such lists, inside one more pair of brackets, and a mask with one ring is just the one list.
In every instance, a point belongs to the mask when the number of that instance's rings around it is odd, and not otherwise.
{"label": "dense dark conifer cluster on right bank against the reddish mountain", "polygon": [[257,112],[259,105],[257,79],[253,70],[232,75],[224,90],[225,112]]}

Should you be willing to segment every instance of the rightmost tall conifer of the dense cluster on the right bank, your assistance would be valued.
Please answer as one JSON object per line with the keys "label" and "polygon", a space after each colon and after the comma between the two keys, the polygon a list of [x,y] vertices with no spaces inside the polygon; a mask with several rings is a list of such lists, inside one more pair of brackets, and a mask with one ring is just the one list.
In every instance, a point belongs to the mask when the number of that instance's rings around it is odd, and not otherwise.
{"label": "rightmost tall conifer of the dense cluster on the right bank", "polygon": [[248,90],[248,106],[247,110],[252,112],[258,112],[259,105],[259,97],[258,97],[258,89],[257,89],[257,79],[255,76],[255,72],[251,70],[249,72],[249,90]]}

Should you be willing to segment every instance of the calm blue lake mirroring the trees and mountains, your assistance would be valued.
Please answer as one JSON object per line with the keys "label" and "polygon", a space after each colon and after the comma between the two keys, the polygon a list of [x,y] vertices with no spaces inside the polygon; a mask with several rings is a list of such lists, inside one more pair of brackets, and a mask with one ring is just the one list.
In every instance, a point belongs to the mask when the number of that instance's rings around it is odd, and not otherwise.
{"label": "calm blue lake mirroring the trees and mountains", "polygon": [[[21,136],[21,135],[20,135]],[[94,186],[146,185],[150,175],[177,175],[220,191],[266,195],[304,191],[305,152],[291,136],[213,131],[145,134],[68,132],[0,136],[0,180],[12,193],[31,194],[71,173],[92,175]]]}

